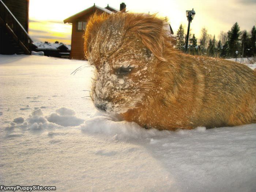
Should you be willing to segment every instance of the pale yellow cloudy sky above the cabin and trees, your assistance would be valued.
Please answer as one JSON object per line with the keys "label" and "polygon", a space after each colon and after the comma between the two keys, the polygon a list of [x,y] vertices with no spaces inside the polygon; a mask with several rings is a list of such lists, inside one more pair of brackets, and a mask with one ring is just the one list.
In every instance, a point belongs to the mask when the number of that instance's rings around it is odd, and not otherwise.
{"label": "pale yellow cloudy sky above the cabin and trees", "polygon": [[33,41],[63,42],[71,44],[72,26],[63,20],[95,3],[100,7],[119,9],[124,2],[129,12],[144,12],[167,17],[176,34],[180,24],[187,33],[186,10],[194,8],[196,15],[191,23],[191,33],[200,39],[201,30],[218,39],[220,31],[227,32],[235,22],[240,30],[251,31],[256,26],[256,0],[30,0],[29,34]]}

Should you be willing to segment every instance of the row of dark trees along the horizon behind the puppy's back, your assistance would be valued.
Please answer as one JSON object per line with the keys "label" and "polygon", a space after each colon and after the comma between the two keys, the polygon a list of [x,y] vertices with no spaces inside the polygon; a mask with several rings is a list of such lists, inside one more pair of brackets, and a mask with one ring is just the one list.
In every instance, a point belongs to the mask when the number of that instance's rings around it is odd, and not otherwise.
{"label": "row of dark trees along the horizon behind the puppy's back", "polygon": [[[184,27],[180,25],[177,31],[176,48],[185,50]],[[256,29],[252,27],[250,32],[240,31],[236,22],[228,32],[221,31],[219,41],[215,35],[208,34],[205,27],[201,30],[199,40],[195,34],[189,35],[188,53],[192,55],[206,55],[209,57],[234,58],[256,56]]]}

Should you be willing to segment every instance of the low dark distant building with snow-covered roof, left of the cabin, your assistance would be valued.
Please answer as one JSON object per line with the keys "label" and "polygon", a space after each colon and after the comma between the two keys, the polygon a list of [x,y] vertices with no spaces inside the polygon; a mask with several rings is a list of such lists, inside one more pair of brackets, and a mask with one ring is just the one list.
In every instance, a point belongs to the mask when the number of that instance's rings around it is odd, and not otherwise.
{"label": "low dark distant building with snow-covered roof, left of the cabin", "polygon": [[70,45],[65,45],[63,43],[55,42],[34,42],[33,43],[37,48],[35,49],[36,52],[42,51],[44,52],[45,56],[52,56],[52,57],[61,57],[61,58],[69,58],[70,56]]}

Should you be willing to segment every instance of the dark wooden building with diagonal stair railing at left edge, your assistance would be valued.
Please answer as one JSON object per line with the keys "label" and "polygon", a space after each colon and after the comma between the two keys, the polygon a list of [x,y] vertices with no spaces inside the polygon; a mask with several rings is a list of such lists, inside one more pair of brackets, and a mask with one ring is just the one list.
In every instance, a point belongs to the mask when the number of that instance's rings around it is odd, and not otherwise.
{"label": "dark wooden building with diagonal stair railing at left edge", "polygon": [[0,54],[30,54],[29,0],[0,0]]}

